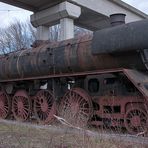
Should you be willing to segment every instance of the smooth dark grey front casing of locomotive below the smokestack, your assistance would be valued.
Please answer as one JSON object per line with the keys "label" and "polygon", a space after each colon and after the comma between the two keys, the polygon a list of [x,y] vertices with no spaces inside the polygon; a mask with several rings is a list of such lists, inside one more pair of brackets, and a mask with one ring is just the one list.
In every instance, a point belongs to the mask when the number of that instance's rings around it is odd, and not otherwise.
{"label": "smooth dark grey front casing of locomotive below the smokestack", "polygon": [[148,20],[96,31],[92,43],[93,54],[148,49]]}

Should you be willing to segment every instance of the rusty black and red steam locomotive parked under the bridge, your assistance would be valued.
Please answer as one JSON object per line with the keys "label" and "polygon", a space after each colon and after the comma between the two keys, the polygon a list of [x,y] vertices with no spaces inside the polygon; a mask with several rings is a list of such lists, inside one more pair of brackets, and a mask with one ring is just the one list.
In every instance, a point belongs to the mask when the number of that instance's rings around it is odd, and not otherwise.
{"label": "rusty black and red steam locomotive parked under the bridge", "polygon": [[148,129],[148,20],[0,57],[0,118]]}

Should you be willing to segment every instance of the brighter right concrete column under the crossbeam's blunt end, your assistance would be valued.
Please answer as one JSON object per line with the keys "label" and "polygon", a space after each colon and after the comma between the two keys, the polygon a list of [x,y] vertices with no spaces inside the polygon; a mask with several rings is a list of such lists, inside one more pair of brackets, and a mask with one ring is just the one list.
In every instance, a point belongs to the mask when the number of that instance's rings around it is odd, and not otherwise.
{"label": "brighter right concrete column under the crossbeam's blunt end", "polygon": [[74,37],[74,20],[63,18],[60,20],[61,32],[60,41],[71,39]]}

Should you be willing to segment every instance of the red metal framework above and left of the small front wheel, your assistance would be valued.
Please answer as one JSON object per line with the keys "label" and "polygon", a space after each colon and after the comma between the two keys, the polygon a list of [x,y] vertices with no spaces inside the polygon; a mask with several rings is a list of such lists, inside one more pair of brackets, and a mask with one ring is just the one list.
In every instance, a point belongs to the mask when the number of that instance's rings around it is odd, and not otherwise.
{"label": "red metal framework above and left of the small front wheel", "polygon": [[[101,104],[100,109],[96,111],[96,114],[102,118],[112,117],[113,119],[122,119],[124,118],[128,104],[143,104],[144,99],[140,96],[100,96],[99,99],[98,97],[95,97],[94,102]],[[113,106],[120,106],[121,112],[114,113],[113,111],[105,111],[104,106],[110,106],[111,108],[113,108]]]}

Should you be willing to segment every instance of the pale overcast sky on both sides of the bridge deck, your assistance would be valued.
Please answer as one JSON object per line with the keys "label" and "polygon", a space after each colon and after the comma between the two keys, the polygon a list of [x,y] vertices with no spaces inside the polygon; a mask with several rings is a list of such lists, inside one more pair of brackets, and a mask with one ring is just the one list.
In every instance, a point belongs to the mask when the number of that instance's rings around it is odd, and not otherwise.
{"label": "pale overcast sky on both sides of the bridge deck", "polygon": [[[148,14],[148,0],[123,0]],[[0,27],[6,27],[15,20],[26,21],[32,12],[0,2]]]}

